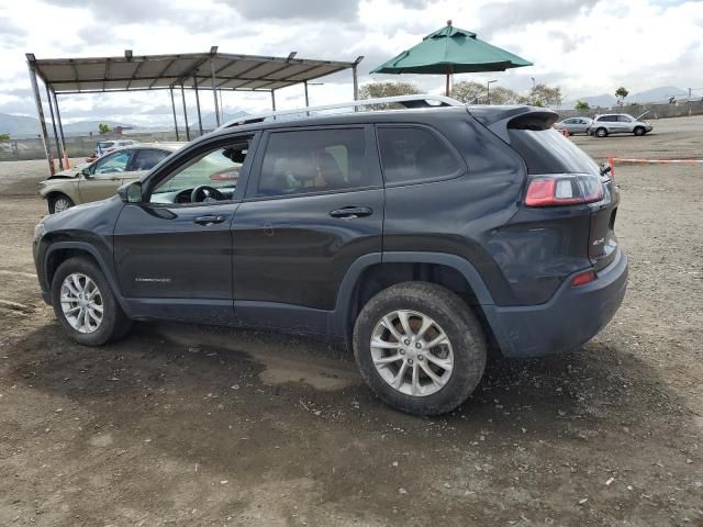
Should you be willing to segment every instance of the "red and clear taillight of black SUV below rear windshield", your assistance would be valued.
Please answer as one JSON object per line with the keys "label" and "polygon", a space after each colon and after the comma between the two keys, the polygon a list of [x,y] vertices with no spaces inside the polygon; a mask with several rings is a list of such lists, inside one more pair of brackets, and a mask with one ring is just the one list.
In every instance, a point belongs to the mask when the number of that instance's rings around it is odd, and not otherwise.
{"label": "red and clear taillight of black SUV below rear windshield", "polygon": [[527,184],[527,206],[555,206],[592,203],[603,199],[599,176],[546,175],[533,177]]}

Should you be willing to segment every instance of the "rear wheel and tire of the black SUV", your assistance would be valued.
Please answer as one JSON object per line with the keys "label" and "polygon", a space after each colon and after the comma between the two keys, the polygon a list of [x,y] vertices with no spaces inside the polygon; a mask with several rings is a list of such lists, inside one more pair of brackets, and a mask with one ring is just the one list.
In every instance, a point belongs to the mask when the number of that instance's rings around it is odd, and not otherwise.
{"label": "rear wheel and tire of the black SUV", "polygon": [[[403,329],[397,317],[400,313],[405,313],[411,332]],[[420,328],[428,319],[433,324],[416,343]],[[371,338],[392,348],[372,346]],[[428,348],[428,339],[442,343]],[[478,318],[457,294],[434,283],[399,283],[369,300],[356,319],[353,345],[366,383],[381,401],[409,414],[438,415],[455,410],[473,392],[486,369],[487,341]],[[383,359],[384,363],[377,367],[375,361]],[[451,363],[451,368],[439,363]],[[437,380],[426,373],[427,369]],[[400,388],[391,385],[391,379]]]}

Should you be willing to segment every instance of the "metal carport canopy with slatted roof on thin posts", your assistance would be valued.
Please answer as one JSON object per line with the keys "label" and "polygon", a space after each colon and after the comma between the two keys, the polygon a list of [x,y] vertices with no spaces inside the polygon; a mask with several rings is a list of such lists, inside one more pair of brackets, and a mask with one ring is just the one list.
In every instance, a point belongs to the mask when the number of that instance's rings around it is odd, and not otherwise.
{"label": "metal carport canopy with slatted roof on thin posts", "polygon": [[[133,55],[132,51],[127,49],[124,52],[124,56],[116,57],[38,59],[34,54],[27,53],[26,58],[47,159],[53,173],[54,165],[51,159],[48,134],[36,77],[42,79],[46,87],[52,117],[54,117],[54,108],[56,109],[56,121],[60,131],[60,138],[56,131],[54,135],[57,150],[60,153],[65,152],[65,141],[56,96],[170,90],[174,126],[176,136],[179,138],[174,88],[180,88],[186,121],[186,136],[190,139],[185,89],[196,90],[198,122],[202,134],[200,90],[212,90],[217,125],[220,125],[219,91],[270,92],[271,106],[276,110],[275,90],[302,83],[304,85],[305,105],[309,105],[309,81],[345,69],[352,69],[354,98],[358,99],[357,66],[364,57],[358,57],[355,61],[338,61],[295,58],[295,52],[290,53],[287,57],[234,55],[217,53],[217,46],[212,46],[210,53]],[[59,165],[63,168],[60,155]]]}

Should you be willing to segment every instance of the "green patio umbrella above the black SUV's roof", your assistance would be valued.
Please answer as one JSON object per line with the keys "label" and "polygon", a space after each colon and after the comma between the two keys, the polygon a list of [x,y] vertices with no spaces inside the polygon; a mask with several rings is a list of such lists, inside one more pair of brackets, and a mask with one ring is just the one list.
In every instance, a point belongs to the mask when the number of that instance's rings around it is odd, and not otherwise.
{"label": "green patio umbrella above the black SUV's roof", "polygon": [[479,41],[476,33],[447,25],[425,36],[420,44],[391,58],[371,74],[426,74],[449,76],[478,71],[505,71],[532,66],[524,58]]}

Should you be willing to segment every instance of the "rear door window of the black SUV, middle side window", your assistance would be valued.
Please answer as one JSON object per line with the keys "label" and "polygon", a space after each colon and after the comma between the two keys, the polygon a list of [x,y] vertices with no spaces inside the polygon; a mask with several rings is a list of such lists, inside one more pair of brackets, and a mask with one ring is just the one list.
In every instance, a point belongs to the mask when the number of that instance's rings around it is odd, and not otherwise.
{"label": "rear door window of the black SUV, middle side window", "polygon": [[366,170],[364,128],[274,132],[257,197],[346,190],[375,184]]}

